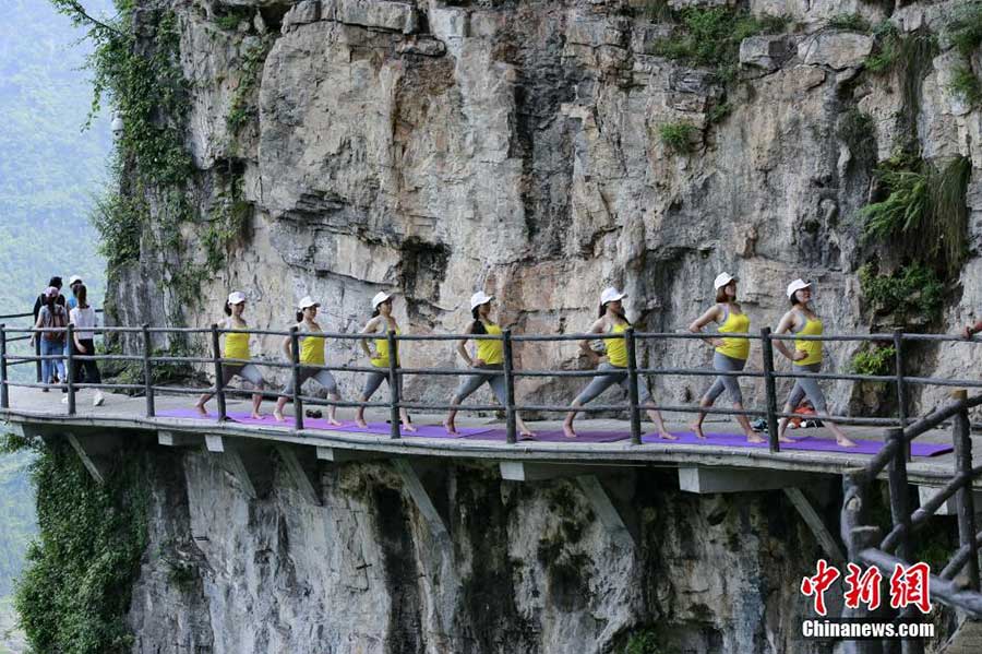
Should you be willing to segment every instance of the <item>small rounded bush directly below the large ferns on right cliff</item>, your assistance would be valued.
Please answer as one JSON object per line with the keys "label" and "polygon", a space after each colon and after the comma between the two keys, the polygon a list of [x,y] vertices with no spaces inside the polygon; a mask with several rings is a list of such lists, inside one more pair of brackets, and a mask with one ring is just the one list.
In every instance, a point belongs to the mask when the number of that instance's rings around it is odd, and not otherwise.
{"label": "small rounded bush directly below the large ferns on right cliff", "polygon": [[882,275],[875,263],[866,263],[860,267],[859,278],[863,297],[877,312],[932,322],[941,319],[945,287],[925,265],[910,264]]}

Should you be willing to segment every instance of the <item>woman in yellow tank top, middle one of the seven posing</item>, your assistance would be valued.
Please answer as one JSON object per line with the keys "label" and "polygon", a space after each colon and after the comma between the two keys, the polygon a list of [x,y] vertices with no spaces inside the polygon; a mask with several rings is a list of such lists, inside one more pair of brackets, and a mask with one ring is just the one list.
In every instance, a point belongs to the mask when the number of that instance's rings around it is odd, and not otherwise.
{"label": "woman in yellow tank top, middle one of the seven posing", "polygon": [[[494,296],[487,295],[481,290],[470,296],[470,314],[474,318],[474,322],[464,330],[465,334],[501,335],[501,326],[491,320],[491,300],[493,299]],[[504,350],[501,341],[493,338],[475,338],[474,341],[477,344],[477,356],[475,357],[471,357],[467,352],[467,341],[468,338],[464,338],[457,344],[457,353],[465,361],[467,361],[468,366],[480,369],[481,372],[468,374],[460,380],[460,385],[457,387],[457,391],[451,400],[451,405],[456,407],[484,383],[491,387],[491,392],[494,393],[494,396],[502,405],[507,404],[508,400],[505,393],[504,373],[489,373],[489,371],[502,371],[504,369]],[[456,417],[457,409],[452,408],[446,415],[446,419],[443,421],[443,426],[446,428],[447,433],[457,433],[457,428],[454,425],[454,419]],[[528,428],[528,425],[525,424],[522,416],[517,413],[515,414],[515,423],[523,439],[535,438],[535,432]]]}

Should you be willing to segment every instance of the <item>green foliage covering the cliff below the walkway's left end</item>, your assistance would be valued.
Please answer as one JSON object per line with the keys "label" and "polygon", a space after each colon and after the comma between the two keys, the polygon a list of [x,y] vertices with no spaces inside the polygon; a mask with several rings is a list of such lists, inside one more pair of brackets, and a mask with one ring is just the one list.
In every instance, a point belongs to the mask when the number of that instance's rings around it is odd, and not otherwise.
{"label": "green foliage covering the cliff below the walkway's left end", "polygon": [[120,457],[99,486],[68,444],[29,447],[40,530],[15,596],[27,639],[37,652],[129,652],[125,616],[147,538],[140,462]]}

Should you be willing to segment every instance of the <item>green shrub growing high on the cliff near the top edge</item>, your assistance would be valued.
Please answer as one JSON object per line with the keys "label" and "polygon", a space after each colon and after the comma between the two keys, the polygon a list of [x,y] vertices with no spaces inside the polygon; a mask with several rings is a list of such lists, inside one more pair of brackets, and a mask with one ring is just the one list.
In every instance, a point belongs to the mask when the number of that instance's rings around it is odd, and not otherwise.
{"label": "green shrub growing high on the cliff near the top edge", "polygon": [[787,19],[752,15],[727,7],[687,7],[678,14],[671,36],[654,44],[654,53],[712,69],[722,83],[736,79],[740,41],[755,34],[782,32]]}

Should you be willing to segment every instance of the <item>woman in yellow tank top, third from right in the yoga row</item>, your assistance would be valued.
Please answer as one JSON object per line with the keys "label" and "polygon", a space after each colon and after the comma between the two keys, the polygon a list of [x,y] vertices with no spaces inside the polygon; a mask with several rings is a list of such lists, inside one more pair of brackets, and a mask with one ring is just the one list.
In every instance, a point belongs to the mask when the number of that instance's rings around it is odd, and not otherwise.
{"label": "woman in yellow tank top, third from right in the yoga row", "polygon": [[[599,374],[597,374],[597,377],[580,391],[579,395],[576,396],[576,400],[574,400],[573,404],[570,406],[570,413],[566,414],[566,419],[563,423],[563,433],[566,438],[576,438],[576,431],[573,430],[573,420],[576,418],[576,414],[578,413],[577,409],[580,406],[584,406],[613,384],[620,384],[625,391],[630,392],[630,379],[626,370],[627,345],[621,336],[621,334],[631,326],[631,323],[627,322],[627,319],[624,317],[624,309],[621,305],[621,300],[625,297],[627,296],[616,288],[606,288],[603,293],[600,294],[600,318],[592,324],[589,333],[616,334],[618,337],[603,338],[603,342],[607,345],[607,361],[603,361],[603,357],[590,348],[590,342],[588,340],[580,343],[583,352],[594,360],[595,365],[599,364],[597,369]],[[640,380],[638,381],[640,382],[637,387],[638,404],[642,407],[646,407],[645,411],[648,414],[648,417],[651,418],[651,421],[655,423],[655,427],[658,429],[658,436],[666,440],[675,440],[676,437],[672,436],[666,428],[664,421],[661,419],[661,414],[658,409],[654,408],[655,404],[651,402],[651,396],[648,394],[647,384]]]}

